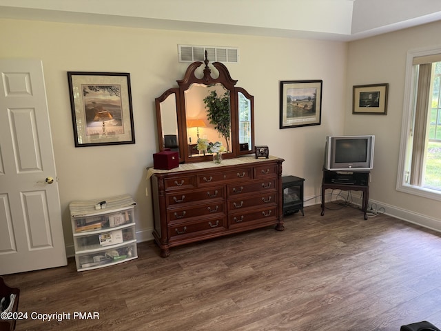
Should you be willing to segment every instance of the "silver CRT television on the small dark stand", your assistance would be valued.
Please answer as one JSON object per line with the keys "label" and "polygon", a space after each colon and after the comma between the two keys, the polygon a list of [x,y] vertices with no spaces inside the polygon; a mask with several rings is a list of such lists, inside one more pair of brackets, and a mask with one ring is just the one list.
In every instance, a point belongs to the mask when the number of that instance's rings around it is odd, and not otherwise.
{"label": "silver CRT television on the small dark stand", "polygon": [[331,171],[369,171],[373,168],[375,136],[328,136],[325,169]]}

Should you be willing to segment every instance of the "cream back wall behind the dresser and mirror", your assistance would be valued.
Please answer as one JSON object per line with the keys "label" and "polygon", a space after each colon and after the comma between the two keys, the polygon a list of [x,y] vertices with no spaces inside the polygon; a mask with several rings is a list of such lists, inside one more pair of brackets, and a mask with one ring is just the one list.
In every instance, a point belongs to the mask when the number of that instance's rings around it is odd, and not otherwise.
{"label": "cream back wall behind the dresser and mirror", "polygon": [[[305,197],[319,194],[325,137],[343,132],[346,43],[9,19],[0,19],[0,40],[0,58],[43,61],[68,246],[70,201],[123,193],[138,202],[139,239],[152,238],[145,175],[157,151],[154,98],[183,78],[187,64],[178,63],[178,43],[240,49],[240,63],[227,67],[237,86],[254,95],[256,144],[285,159],[283,174],[306,179]],[[74,147],[68,71],[130,72],[134,145]],[[323,80],[322,124],[279,130],[279,81],[296,79]]]}

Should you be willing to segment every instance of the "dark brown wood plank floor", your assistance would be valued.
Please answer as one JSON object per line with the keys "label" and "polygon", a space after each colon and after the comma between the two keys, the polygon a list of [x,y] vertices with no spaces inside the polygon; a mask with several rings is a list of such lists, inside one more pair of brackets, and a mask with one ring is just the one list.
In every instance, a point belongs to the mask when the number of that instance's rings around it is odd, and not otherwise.
{"label": "dark brown wood plank floor", "polygon": [[[330,208],[337,208],[331,205]],[[441,234],[360,210],[305,208],[285,231],[264,228],[173,248],[88,272],[12,274],[21,312],[70,320],[17,322],[17,330],[398,331],[441,325]],[[99,312],[99,320],[73,320]]]}

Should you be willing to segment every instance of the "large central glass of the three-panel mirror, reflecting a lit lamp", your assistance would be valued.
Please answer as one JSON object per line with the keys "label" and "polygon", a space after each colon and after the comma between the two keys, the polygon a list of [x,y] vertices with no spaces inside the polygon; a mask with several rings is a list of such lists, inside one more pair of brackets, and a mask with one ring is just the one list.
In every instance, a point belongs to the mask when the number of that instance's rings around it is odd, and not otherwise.
{"label": "large central glass of the three-panel mirror, reflecting a lit lamp", "polygon": [[206,86],[192,83],[184,92],[187,119],[188,156],[212,154],[218,141],[225,152],[231,151],[230,92],[222,83]]}

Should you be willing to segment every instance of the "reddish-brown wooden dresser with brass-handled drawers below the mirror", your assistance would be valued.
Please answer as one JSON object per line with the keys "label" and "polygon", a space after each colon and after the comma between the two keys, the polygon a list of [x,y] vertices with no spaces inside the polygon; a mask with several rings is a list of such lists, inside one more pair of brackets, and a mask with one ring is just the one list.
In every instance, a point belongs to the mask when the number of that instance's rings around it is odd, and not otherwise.
{"label": "reddish-brown wooden dresser with brass-handled drawers below the mirror", "polygon": [[161,257],[170,248],[268,225],[283,226],[283,159],[239,157],[150,168],[154,240]]}

